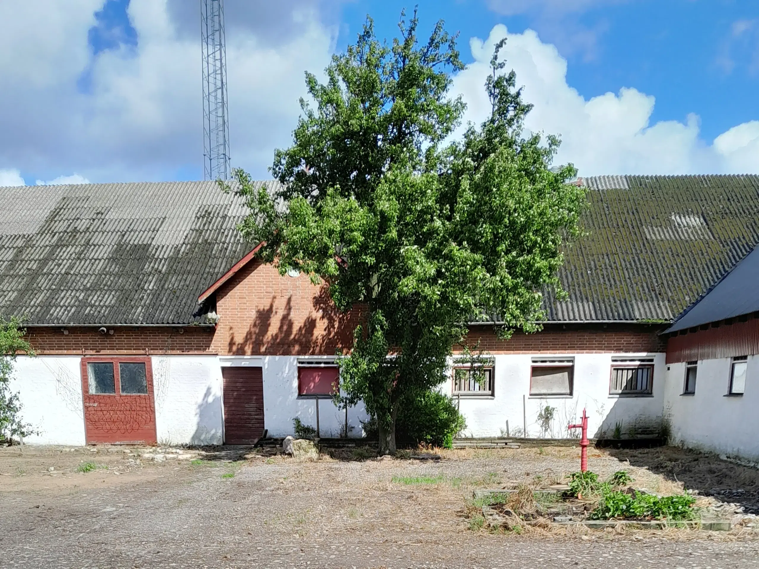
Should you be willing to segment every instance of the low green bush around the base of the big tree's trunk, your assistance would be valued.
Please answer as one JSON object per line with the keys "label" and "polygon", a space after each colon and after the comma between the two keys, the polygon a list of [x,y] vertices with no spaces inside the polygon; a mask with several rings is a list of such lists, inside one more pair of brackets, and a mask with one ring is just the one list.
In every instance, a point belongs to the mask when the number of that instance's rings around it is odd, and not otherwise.
{"label": "low green bush around the base of the big tree's trunk", "polygon": [[[367,436],[377,436],[376,419],[370,419],[363,426]],[[395,437],[402,442],[453,448],[453,439],[466,426],[452,398],[430,389],[398,410]]]}

